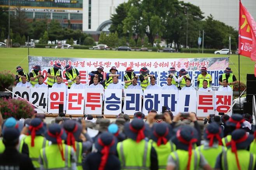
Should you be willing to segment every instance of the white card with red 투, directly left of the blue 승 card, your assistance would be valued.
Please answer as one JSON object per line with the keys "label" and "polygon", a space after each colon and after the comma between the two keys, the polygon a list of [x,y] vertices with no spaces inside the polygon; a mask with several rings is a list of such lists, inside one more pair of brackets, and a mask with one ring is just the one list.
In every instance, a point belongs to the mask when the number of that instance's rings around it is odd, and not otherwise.
{"label": "white card with red \ud22c, directly left of the blue \uc2b9 card", "polygon": [[102,114],[103,90],[87,88],[85,93],[85,114]]}

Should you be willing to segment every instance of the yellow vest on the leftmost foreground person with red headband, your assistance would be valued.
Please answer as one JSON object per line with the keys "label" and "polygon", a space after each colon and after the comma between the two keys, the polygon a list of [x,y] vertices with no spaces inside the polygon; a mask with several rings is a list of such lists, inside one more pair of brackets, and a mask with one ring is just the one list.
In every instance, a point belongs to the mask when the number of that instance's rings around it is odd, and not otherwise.
{"label": "yellow vest on the leftmost foreground person with red headband", "polygon": [[32,160],[32,163],[35,168],[40,168],[39,155],[40,155],[40,149],[46,147],[49,145],[49,141],[47,141],[42,136],[35,136],[35,145],[31,146],[31,136],[27,136],[24,140],[24,143],[28,145],[28,151],[29,151],[29,157]]}

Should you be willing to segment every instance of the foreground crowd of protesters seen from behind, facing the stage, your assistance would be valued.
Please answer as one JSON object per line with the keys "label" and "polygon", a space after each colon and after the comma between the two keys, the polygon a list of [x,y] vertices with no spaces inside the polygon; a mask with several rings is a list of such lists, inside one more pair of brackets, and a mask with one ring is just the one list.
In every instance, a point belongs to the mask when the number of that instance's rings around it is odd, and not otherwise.
{"label": "foreground crowd of protesters seen from behind, facing the stage", "polygon": [[[1,115],[1,114],[0,114]],[[63,117],[60,117],[63,116]],[[209,115],[171,111],[132,120],[44,116],[2,120],[1,170],[254,170],[256,132],[249,114]]]}

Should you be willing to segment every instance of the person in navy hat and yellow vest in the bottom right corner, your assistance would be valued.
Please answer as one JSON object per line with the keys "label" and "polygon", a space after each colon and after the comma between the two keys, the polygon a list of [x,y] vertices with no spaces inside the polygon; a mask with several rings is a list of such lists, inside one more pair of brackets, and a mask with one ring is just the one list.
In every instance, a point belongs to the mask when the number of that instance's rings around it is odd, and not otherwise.
{"label": "person in navy hat and yellow vest in the bottom right corner", "polygon": [[233,131],[231,141],[227,143],[228,149],[219,154],[214,169],[255,170],[256,156],[247,150],[253,139],[253,135],[243,129]]}

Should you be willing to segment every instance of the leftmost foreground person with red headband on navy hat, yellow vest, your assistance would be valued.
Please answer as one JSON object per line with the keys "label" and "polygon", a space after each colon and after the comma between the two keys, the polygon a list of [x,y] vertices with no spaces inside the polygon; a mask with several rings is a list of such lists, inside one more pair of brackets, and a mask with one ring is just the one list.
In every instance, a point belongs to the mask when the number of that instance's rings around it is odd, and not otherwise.
{"label": "leftmost foreground person with red headband on navy hat, yellow vest", "polygon": [[29,157],[35,168],[40,168],[38,162],[40,149],[49,145],[49,141],[43,136],[45,132],[46,125],[40,118],[34,118],[28,127],[28,136],[23,139],[24,143],[28,145]]}

